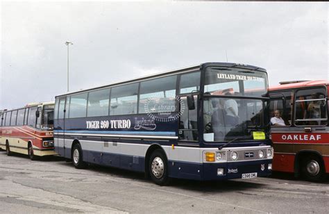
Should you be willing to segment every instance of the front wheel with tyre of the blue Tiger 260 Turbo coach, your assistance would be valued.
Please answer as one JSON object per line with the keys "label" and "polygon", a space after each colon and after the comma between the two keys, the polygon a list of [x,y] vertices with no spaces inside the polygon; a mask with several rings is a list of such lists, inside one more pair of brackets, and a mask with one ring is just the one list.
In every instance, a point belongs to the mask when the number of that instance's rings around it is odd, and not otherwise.
{"label": "front wheel with tyre of the blue Tiger 260 Turbo coach", "polygon": [[149,174],[154,183],[165,186],[169,184],[168,161],[162,149],[155,149],[149,159]]}

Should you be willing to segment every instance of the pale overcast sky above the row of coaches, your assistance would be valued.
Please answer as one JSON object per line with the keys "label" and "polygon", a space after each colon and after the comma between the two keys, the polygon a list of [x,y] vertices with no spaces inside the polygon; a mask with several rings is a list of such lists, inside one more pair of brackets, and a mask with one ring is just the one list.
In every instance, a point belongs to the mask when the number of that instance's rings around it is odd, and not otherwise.
{"label": "pale overcast sky above the row of coaches", "polygon": [[[326,2],[1,1],[0,109],[206,62],[329,79]],[[226,57],[227,56],[227,57]]]}

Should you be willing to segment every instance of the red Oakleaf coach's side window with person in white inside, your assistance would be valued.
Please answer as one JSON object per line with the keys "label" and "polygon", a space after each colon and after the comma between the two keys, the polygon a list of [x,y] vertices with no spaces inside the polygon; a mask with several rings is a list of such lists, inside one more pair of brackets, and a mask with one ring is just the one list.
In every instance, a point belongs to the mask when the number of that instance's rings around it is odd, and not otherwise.
{"label": "red Oakleaf coach's side window with person in white inside", "polygon": [[292,124],[292,91],[274,92],[269,106],[271,126],[290,126]]}

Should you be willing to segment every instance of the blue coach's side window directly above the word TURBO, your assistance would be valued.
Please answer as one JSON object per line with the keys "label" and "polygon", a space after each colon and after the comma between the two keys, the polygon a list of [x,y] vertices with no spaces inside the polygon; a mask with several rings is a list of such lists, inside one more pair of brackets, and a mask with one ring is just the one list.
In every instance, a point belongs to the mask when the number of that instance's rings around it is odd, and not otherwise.
{"label": "blue coach's side window directly above the word TURBO", "polygon": [[122,85],[111,89],[110,115],[137,113],[138,84]]}

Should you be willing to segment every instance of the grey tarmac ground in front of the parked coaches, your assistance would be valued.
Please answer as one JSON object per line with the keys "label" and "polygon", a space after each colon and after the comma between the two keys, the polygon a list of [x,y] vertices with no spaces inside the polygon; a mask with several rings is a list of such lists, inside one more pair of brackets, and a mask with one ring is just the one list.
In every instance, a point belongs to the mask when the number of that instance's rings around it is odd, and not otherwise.
{"label": "grey tarmac ground in front of the parked coaches", "polygon": [[329,179],[292,174],[230,181],[174,179],[157,186],[144,174],[60,157],[30,161],[0,151],[1,213],[329,213]]}

